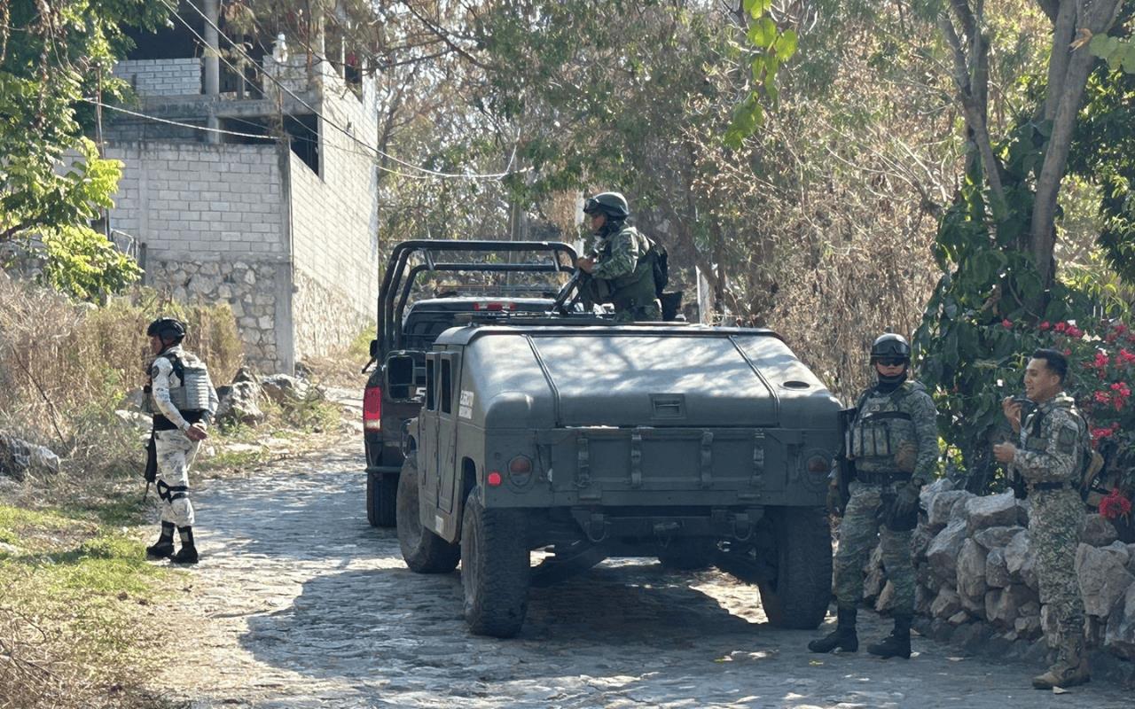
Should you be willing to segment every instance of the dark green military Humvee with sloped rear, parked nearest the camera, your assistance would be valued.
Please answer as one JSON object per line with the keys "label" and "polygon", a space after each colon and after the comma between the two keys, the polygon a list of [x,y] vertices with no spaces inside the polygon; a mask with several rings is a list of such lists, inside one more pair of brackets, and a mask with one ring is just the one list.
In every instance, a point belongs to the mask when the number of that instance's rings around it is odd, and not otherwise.
{"label": "dark green military Humvee with sloped rear, parked nearest the camera", "polygon": [[774,332],[471,323],[424,365],[398,541],[415,572],[461,563],[472,632],[514,635],[530,584],[611,556],[715,563],[774,625],[823,619],[840,405]]}

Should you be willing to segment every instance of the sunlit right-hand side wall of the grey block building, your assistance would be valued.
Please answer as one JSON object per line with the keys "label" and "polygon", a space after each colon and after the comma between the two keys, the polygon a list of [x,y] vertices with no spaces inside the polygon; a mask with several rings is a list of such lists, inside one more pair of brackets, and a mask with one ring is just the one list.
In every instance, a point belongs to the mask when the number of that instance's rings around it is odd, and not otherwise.
{"label": "sunlit right-hand side wall of the grey block building", "polygon": [[[326,78],[320,112],[365,145],[377,144],[373,87],[363,99]],[[320,121],[321,174],[291,155],[297,293],[296,356],[346,346],[375,321],[378,298],[378,183],[375,155]]]}

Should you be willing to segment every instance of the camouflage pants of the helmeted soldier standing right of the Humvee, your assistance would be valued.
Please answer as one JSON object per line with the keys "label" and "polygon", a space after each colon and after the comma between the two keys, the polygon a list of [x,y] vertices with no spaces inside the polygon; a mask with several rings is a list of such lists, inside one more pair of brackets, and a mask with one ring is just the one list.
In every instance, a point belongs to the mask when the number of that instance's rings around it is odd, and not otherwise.
{"label": "camouflage pants of the helmeted soldier standing right of the Humvee", "polygon": [[[901,483],[900,483],[901,484]],[[854,607],[863,600],[863,566],[875,548],[883,550],[886,577],[894,586],[894,611],[914,614],[915,566],[910,558],[913,532],[896,532],[880,525],[876,518],[882,493],[893,486],[852,482],[840,523],[840,548],[835,552],[835,599],[842,607]]]}

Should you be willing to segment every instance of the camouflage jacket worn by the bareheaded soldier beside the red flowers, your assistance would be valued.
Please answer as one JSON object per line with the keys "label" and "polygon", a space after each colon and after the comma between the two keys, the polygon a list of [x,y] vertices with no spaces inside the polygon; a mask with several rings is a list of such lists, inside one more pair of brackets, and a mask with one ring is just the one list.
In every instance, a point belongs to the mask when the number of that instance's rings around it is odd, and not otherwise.
{"label": "camouflage jacket worn by the bareheaded soldier beside the red flowers", "polygon": [[1061,391],[1036,407],[1020,427],[1012,469],[1026,481],[1073,482],[1081,473],[1087,424],[1070,396]]}

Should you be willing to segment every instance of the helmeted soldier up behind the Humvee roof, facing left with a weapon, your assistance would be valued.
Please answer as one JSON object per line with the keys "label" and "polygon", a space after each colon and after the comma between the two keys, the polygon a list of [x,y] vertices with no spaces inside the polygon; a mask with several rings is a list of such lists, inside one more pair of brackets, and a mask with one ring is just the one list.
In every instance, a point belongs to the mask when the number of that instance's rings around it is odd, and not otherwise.
{"label": "helmeted soldier up behind the Humvee roof, facing left with a weapon", "polygon": [[617,192],[597,194],[583,204],[583,213],[591,218],[591,230],[598,237],[592,255],[575,262],[590,276],[580,284],[583,304],[613,304],[619,322],[662,320],[651,243],[625,225],[630,217],[627,199]]}

